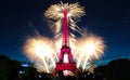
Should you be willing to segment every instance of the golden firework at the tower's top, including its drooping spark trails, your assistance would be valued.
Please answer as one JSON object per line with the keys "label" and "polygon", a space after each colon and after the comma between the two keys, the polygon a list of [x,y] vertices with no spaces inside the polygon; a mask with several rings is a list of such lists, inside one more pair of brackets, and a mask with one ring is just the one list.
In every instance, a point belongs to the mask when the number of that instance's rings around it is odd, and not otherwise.
{"label": "golden firework at the tower's top, including its drooping spark trails", "polygon": [[[69,27],[75,30],[78,31],[80,34],[80,28],[75,24],[75,21],[78,21],[82,15],[84,15],[84,11],[83,8],[79,5],[79,3],[73,3],[73,4],[68,4],[68,3],[58,3],[58,4],[53,4],[51,5],[44,13],[46,17],[54,19],[55,26],[51,26],[51,27],[56,27],[55,28],[55,32],[58,34],[61,31],[61,25],[58,25],[64,17],[63,12],[67,10],[67,17],[68,17],[68,25]],[[56,26],[58,25],[58,26]]]}

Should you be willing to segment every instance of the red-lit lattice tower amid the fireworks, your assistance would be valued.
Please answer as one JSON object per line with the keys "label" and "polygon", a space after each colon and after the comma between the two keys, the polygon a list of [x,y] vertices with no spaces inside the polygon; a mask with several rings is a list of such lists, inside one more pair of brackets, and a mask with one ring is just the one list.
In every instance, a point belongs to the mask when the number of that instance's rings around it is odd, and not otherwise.
{"label": "red-lit lattice tower amid the fireworks", "polygon": [[[72,49],[69,48],[69,36],[68,36],[68,22],[67,22],[67,10],[63,11],[63,44],[61,49],[61,54],[58,56],[60,62],[56,63],[56,67],[53,70],[53,75],[56,75],[60,71],[69,70],[74,74],[78,72],[76,63],[74,62],[72,55]],[[64,62],[65,55],[67,55],[68,62]]]}

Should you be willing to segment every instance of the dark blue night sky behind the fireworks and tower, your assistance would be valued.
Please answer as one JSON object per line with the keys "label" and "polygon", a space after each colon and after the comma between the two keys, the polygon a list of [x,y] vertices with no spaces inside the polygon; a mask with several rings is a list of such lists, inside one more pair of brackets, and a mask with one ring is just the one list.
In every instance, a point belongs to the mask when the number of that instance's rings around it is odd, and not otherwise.
{"label": "dark blue night sky behind the fireworks and tower", "polygon": [[[44,11],[60,0],[2,0],[0,1],[0,54],[11,59],[28,61],[23,44],[36,31],[52,37]],[[77,24],[89,32],[103,37],[107,49],[99,63],[130,58],[129,0],[63,0],[79,2],[87,15]]]}

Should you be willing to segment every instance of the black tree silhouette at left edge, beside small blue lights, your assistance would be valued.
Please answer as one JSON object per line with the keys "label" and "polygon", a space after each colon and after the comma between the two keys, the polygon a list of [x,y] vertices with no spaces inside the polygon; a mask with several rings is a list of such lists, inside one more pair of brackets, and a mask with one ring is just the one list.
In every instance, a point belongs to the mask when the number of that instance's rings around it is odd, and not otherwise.
{"label": "black tree silhouette at left edge, beside small blue lights", "polygon": [[0,80],[18,80],[20,67],[20,62],[0,55]]}

